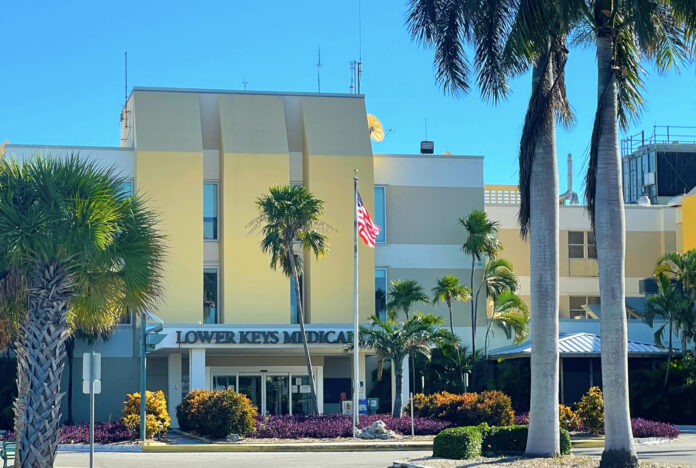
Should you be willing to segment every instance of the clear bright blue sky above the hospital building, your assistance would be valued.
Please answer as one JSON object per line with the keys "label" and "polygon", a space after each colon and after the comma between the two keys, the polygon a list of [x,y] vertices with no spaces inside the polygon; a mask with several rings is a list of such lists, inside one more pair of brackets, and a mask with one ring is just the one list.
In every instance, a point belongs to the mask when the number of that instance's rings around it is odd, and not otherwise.
{"label": "clear bright blue sky above the hospital building", "polygon": [[[0,15],[0,140],[118,146],[129,86],[348,92],[358,56],[358,3],[346,1],[32,1],[4,2]],[[529,77],[512,82],[498,106],[477,92],[455,99],[437,87],[432,51],[404,26],[405,0],[362,0],[362,91],[368,112],[388,132],[376,153],[435,151],[486,157],[486,183],[516,183],[517,145]],[[646,108],[629,133],[653,125],[696,125],[696,70],[650,71]],[[566,154],[575,157],[575,189],[586,166],[596,78],[594,52],[572,50],[568,93],[577,123],[559,130],[561,188]]]}

